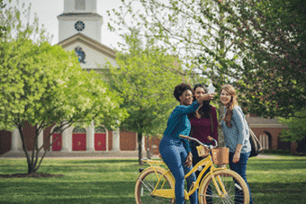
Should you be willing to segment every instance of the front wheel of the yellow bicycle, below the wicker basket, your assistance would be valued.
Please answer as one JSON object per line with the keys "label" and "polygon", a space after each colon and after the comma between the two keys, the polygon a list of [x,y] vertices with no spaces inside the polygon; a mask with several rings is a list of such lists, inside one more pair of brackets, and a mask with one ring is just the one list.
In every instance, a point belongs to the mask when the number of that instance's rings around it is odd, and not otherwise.
{"label": "front wheel of the yellow bicycle, below the wicker basket", "polygon": [[[215,180],[220,193],[212,181],[212,176],[208,176],[199,188],[199,203],[249,203],[249,192],[247,183],[234,171],[229,169],[214,172]],[[222,186],[224,191],[222,191]]]}

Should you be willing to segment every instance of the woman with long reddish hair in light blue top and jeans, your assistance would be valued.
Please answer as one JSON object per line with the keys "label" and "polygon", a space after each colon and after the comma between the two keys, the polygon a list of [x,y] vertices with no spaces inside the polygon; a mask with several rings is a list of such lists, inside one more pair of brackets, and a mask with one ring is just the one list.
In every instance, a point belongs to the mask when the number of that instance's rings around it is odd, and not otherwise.
{"label": "woman with long reddish hair in light blue top and jeans", "polygon": [[[251,151],[247,121],[238,106],[235,88],[225,84],[220,90],[220,101],[225,106],[221,121],[225,146],[229,147],[229,168],[238,173],[246,182],[247,160]],[[248,184],[247,184],[248,187]],[[249,187],[248,187],[249,190]],[[253,203],[251,191],[250,204]],[[235,203],[239,203],[235,200]]]}

